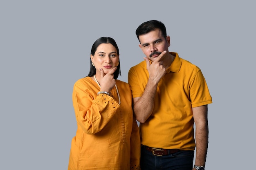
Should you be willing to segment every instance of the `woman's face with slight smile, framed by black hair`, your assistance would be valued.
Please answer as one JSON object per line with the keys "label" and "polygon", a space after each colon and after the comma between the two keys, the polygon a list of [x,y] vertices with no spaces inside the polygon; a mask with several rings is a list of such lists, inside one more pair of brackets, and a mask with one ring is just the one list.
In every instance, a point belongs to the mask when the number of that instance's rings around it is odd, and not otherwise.
{"label": "woman's face with slight smile, framed by black hair", "polygon": [[96,68],[96,75],[100,75],[99,68],[102,68],[104,73],[107,74],[118,65],[119,56],[115,46],[110,43],[103,43],[98,46],[94,55],[91,55],[91,60]]}

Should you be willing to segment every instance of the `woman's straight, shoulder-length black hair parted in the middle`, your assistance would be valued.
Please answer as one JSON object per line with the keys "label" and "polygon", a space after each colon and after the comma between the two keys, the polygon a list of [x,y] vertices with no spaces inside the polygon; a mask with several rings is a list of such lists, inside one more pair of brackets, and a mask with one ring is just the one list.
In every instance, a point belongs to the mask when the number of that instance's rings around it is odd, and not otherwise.
{"label": "woman's straight, shoulder-length black hair parted in the middle", "polygon": [[[100,44],[112,44],[113,46],[115,46],[115,48],[117,49],[117,55],[119,56],[119,49],[118,49],[118,46],[117,46],[117,43],[115,42],[115,40],[113,38],[110,38],[110,37],[101,37],[99,38],[98,40],[96,40],[93,44],[92,44],[92,50],[91,50],[91,55],[94,55],[95,54],[95,51],[97,50],[98,46]],[[117,79],[117,77],[119,75],[121,75],[121,68],[120,68],[120,58],[119,58],[119,64],[117,66],[117,70],[115,71],[114,73],[114,79]],[[88,76],[89,77],[92,77],[93,75],[96,74],[96,68],[92,65],[92,60],[90,58],[90,71],[89,71],[89,74]]]}

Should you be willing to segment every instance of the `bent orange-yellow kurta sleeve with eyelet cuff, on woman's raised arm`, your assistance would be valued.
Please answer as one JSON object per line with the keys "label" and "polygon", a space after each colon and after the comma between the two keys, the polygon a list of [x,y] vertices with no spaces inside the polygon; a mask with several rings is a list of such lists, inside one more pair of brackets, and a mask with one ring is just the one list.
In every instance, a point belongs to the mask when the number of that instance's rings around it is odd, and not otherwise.
{"label": "bent orange-yellow kurta sleeve with eyelet cuff, on woman's raised arm", "polygon": [[72,99],[76,120],[87,134],[101,131],[119,107],[114,98],[106,94],[97,95],[97,91],[83,81],[74,84]]}

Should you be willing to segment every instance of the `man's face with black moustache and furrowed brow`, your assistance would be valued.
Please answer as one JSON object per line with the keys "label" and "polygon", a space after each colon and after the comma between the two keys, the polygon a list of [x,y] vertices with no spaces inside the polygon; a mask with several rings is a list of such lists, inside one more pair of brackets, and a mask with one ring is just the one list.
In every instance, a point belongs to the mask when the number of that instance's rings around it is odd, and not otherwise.
{"label": "man's face with black moustache and furrowed brow", "polygon": [[159,29],[150,31],[147,34],[139,35],[140,44],[139,47],[146,55],[146,57],[152,62],[163,52],[168,52],[170,46],[170,37],[164,38],[162,32]]}

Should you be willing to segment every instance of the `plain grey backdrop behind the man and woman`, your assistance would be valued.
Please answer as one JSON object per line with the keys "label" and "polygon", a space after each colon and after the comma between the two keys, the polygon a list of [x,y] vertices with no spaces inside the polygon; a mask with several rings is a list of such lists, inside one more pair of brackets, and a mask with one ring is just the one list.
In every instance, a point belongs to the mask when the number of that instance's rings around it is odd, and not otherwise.
{"label": "plain grey backdrop behind the man and woman", "polygon": [[209,105],[207,170],[252,169],[255,149],[255,2],[244,0],[1,1],[0,166],[65,170],[76,132],[74,82],[101,36],[120,49],[119,79],[143,60],[135,29],[160,20],[169,51],[202,69]]}

